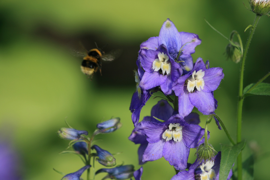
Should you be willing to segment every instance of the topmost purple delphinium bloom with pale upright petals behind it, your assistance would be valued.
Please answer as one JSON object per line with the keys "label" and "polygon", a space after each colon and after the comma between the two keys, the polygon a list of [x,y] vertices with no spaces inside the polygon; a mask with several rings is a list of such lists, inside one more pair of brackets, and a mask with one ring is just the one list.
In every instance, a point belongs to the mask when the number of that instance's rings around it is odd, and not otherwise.
{"label": "topmost purple delphinium bloom with pale upright petals behind it", "polygon": [[190,54],[195,52],[195,47],[200,43],[198,35],[178,32],[173,22],[167,19],[159,36],[149,38],[140,46],[140,65],[145,70],[140,87],[147,90],[160,86],[165,95],[170,95],[173,82],[182,75],[178,61],[184,62],[181,63],[185,64],[185,70],[192,69]]}

